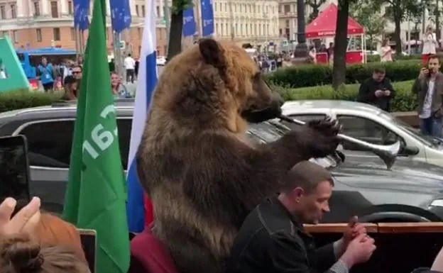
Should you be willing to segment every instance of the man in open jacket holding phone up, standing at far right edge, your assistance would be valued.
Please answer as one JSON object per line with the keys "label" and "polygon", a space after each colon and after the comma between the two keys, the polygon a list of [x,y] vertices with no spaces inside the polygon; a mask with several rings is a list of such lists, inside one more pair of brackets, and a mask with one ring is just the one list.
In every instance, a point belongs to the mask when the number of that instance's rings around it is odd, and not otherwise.
{"label": "man in open jacket holding phone up, standing at far right edge", "polygon": [[421,132],[424,135],[441,138],[443,77],[437,55],[430,56],[427,66],[420,70],[420,74],[412,85],[412,93],[417,94],[417,113]]}

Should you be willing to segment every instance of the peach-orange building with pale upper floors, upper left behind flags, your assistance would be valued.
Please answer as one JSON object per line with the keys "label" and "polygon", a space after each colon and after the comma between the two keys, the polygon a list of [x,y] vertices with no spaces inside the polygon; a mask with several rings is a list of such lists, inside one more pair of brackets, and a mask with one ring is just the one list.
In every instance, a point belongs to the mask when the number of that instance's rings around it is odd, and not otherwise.
{"label": "peach-orange building with pale upper floors, upper left behind flags", "polygon": [[[131,52],[137,57],[141,48],[146,7],[144,0],[132,0],[130,3],[132,25],[121,33],[121,40],[126,43],[125,52]],[[106,38],[111,52],[113,39],[109,1],[106,10]],[[76,49],[79,45],[76,45],[73,13],[73,0],[0,0],[0,35],[9,35],[15,48],[57,46]],[[158,20],[156,34],[158,55],[164,55],[166,28],[162,20]],[[82,36],[86,43],[87,30]]]}

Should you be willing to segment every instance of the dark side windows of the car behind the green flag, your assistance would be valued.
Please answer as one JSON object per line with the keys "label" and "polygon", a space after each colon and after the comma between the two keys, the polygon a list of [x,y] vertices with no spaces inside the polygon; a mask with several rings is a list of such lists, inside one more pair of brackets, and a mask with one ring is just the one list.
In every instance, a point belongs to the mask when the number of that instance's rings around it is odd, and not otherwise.
{"label": "dark side windows of the car behind the green flag", "polygon": [[[128,165],[131,119],[117,119],[121,163]],[[28,140],[31,166],[68,168],[72,146],[74,121],[43,121],[32,123],[19,132]]]}

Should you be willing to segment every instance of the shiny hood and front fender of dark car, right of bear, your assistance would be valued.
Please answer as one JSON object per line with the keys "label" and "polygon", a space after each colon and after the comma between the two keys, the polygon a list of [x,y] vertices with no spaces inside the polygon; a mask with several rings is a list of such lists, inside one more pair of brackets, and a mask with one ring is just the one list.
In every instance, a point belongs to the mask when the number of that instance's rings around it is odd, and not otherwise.
{"label": "shiny hood and front fender of dark car, right of bear", "polygon": [[[278,121],[251,125],[251,140],[268,143],[286,128]],[[424,222],[443,219],[443,168],[417,162],[396,162],[388,169],[377,157],[346,158],[341,152],[312,159],[334,177],[330,213],[322,223],[343,223],[357,215],[363,222]]]}

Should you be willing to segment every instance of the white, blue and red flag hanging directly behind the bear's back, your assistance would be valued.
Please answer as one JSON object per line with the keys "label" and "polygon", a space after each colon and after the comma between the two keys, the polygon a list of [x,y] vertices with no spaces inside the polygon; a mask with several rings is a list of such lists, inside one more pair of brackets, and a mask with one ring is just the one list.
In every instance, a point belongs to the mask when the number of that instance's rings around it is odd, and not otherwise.
{"label": "white, blue and red flag hanging directly behind the bear's back", "polygon": [[133,233],[142,232],[145,226],[153,221],[151,201],[144,194],[137,177],[136,152],[143,135],[151,95],[155,84],[157,84],[154,5],[153,0],[146,0],[145,28],[141,43],[140,68],[138,71],[136,101],[132,120],[131,145],[129,147],[126,215],[128,217],[129,231]]}

